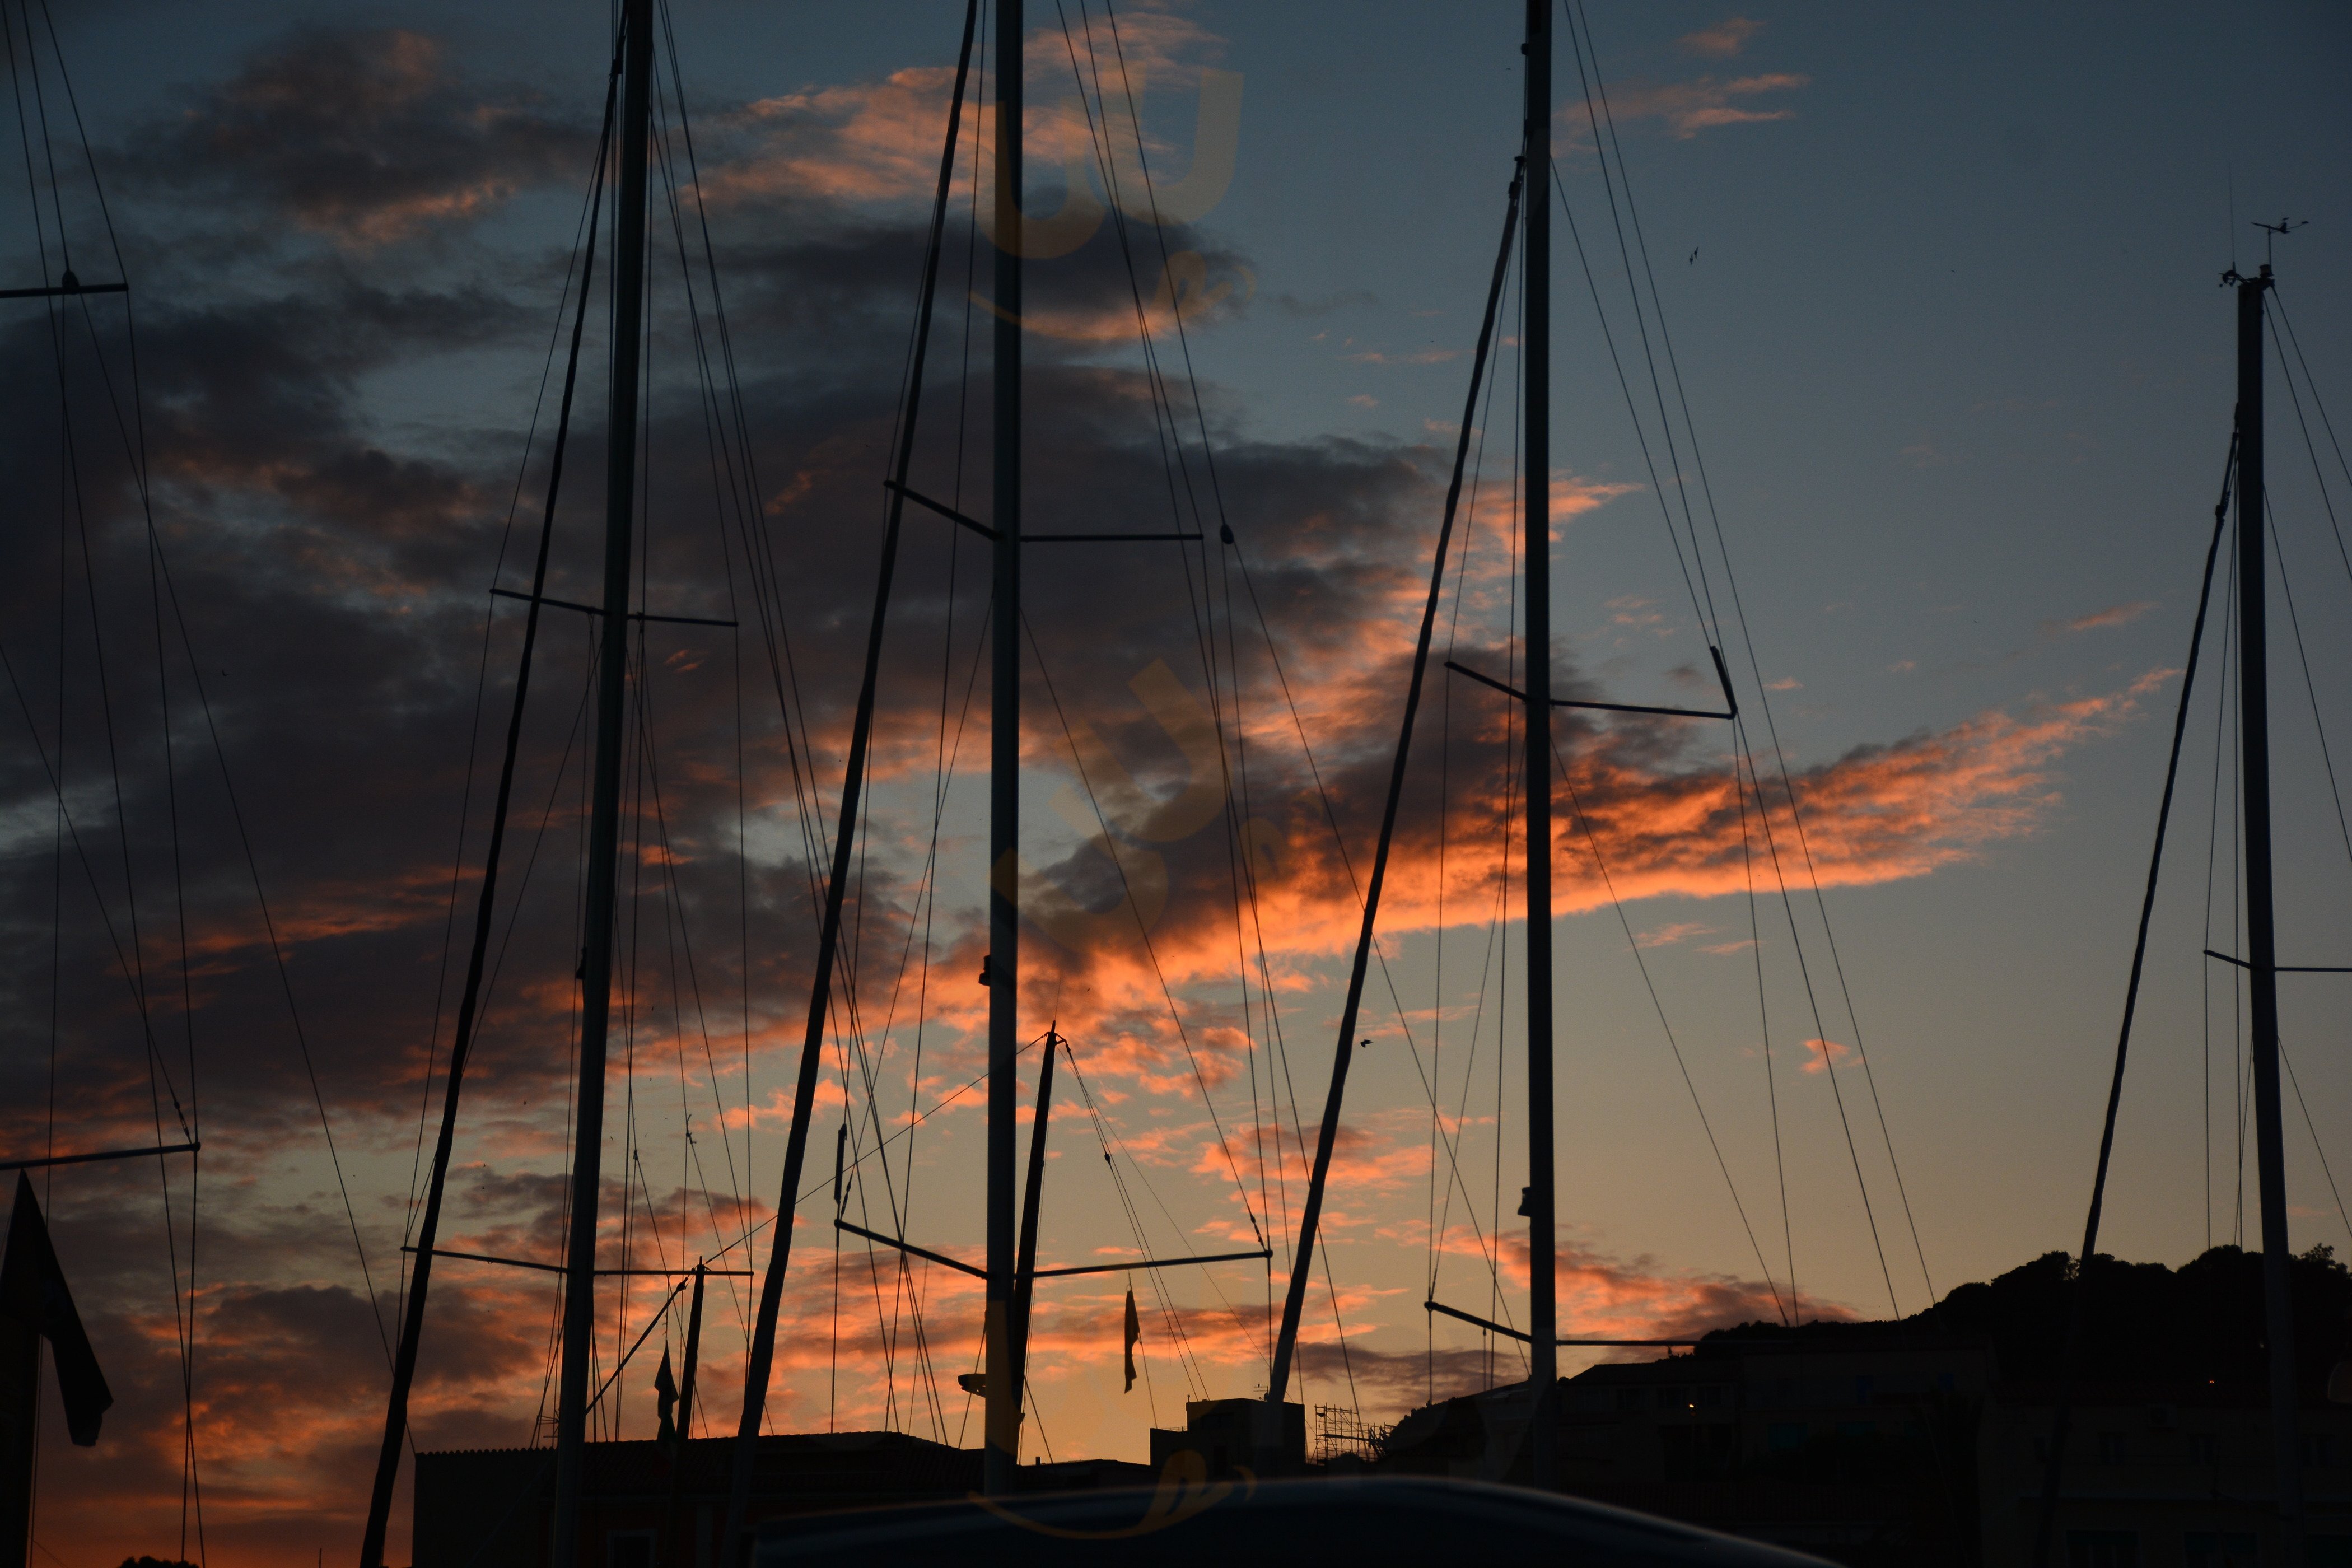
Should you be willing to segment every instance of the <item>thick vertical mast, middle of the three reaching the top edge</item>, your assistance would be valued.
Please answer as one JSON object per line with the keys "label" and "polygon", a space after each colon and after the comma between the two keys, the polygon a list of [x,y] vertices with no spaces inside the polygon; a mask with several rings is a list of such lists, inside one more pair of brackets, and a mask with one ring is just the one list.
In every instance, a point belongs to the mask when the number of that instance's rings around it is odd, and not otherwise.
{"label": "thick vertical mast, middle of the three reaching the top edge", "polygon": [[1021,0],[997,0],[995,592],[988,649],[988,1418],[981,1483],[1021,1462],[1014,1382],[1014,1121],[1021,1081]]}

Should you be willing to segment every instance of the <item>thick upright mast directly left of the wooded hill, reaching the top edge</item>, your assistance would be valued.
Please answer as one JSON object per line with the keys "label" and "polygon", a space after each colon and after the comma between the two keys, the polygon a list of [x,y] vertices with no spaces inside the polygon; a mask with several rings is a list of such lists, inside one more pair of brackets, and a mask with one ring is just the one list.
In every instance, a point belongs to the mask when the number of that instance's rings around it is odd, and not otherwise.
{"label": "thick upright mast directly left of the wooded hill, reaching the top edge", "polygon": [[1534,1465],[1552,1486],[1559,1302],[1552,1279],[1552,5],[1526,0],[1526,249],[1519,362],[1526,376],[1526,1335]]}

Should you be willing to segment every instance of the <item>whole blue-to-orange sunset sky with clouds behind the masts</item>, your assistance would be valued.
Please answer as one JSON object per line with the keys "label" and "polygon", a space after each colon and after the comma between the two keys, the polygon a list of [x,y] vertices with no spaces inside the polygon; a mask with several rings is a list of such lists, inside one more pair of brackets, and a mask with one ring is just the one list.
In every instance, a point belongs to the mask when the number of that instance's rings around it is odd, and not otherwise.
{"label": "whole blue-to-orange sunset sky with clouds behind the masts", "polygon": [[[2274,367],[2279,950],[2352,964],[2328,778],[2352,769],[2352,555],[2331,531],[2352,473],[2312,402],[2352,435],[2352,21],[1588,2],[1623,167],[1611,148],[1604,183],[1562,28],[1555,686],[1710,703],[1719,607],[1769,809],[1736,783],[1731,726],[1559,724],[1562,1328],[1773,1319],[1792,1269],[1806,1316],[1910,1314],[2079,1246],[2230,440],[2216,282],[2263,259],[2253,219],[2310,219],[2274,259],[2328,480]],[[134,1161],[35,1182],[118,1399],[80,1450],[52,1396],[35,1556],[348,1559],[520,649],[517,607],[485,590],[529,583],[604,7],[7,19],[26,136],[0,179],[0,287],[68,263],[111,280],[120,242],[136,360],[118,299],[0,301],[0,1145],[205,1143],[200,1192],[186,1157],[162,1180]],[[1025,1450],[1141,1460],[1185,1399],[1268,1375],[1298,1128],[1331,1072],[1352,877],[1517,150],[1519,5],[1065,0],[1028,21],[1028,209],[1063,212],[1068,242],[1028,268],[1025,522],[1209,536],[1030,552],[1023,1034],[1070,1041],[1040,1255],[1275,1251],[1272,1272],[1138,1274],[1134,1392],[1129,1281],[1040,1288]],[[946,0],[670,16],[640,588],[656,616],[739,628],[654,623],[637,644],[609,1262],[769,1255],[809,846],[842,788],[960,24]],[[1091,160],[1105,87],[1117,190]],[[967,115],[915,458],[917,487],[981,515],[990,214],[969,172],[993,134]],[[609,233],[555,520],[567,599],[600,597],[607,280]],[[1519,287],[1515,266],[1439,618],[1439,651],[1498,677],[1524,661]],[[1665,334],[1679,395],[1651,386]],[[856,987],[767,1408],[769,1429],[976,1446],[955,1373],[976,1366],[978,1281],[835,1253],[830,1227],[849,1126],[854,1222],[969,1260],[983,1244],[985,557],[936,517],[906,529]],[[555,1260],[564,1225],[581,621],[548,611],[539,644],[442,1227],[529,1260]],[[2218,632],[2216,614],[2103,1232],[2164,1262],[2258,1239],[2232,971],[2199,957],[2241,940]],[[1291,1385],[1310,1406],[1395,1420],[1519,1378],[1508,1345],[1421,1305],[1526,1309],[1505,741],[1494,693],[1432,675]],[[2298,1248],[2352,1246],[2343,985],[2281,983]],[[710,1286],[699,1434],[736,1422],[746,1284]],[[597,1378],[663,1307],[666,1286],[630,1286],[600,1293]],[[546,1439],[555,1276],[452,1260],[430,1302],[416,1448]],[[604,1436],[652,1436],[680,1307],[597,1410]],[[407,1497],[405,1479],[388,1561],[407,1561]]]}

